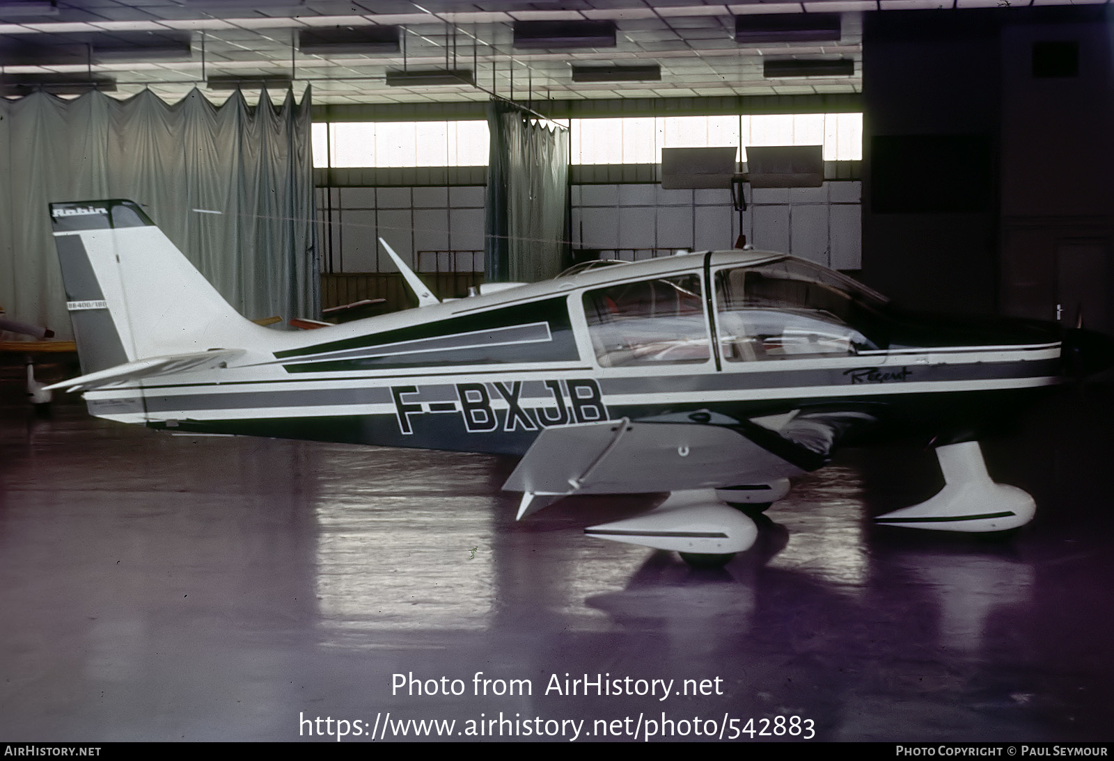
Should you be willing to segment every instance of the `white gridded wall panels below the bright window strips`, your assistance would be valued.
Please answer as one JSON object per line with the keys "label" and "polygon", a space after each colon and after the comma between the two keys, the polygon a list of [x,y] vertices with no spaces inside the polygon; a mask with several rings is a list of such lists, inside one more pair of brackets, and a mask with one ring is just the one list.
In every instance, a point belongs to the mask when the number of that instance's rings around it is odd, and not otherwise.
{"label": "white gridded wall panels below the bright window strips", "polygon": [[[319,188],[317,194],[326,307],[374,297],[371,290],[381,287],[391,289],[381,296],[394,298],[393,284],[384,278],[359,278],[395,271],[378,246],[379,236],[419,271],[477,273],[476,277],[443,280],[460,291],[456,295],[480,281],[483,186],[333,187]],[[860,195],[857,180],[828,181],[820,188],[747,189],[746,238],[756,248],[857,270]],[[642,259],[678,248],[730,248],[739,235],[739,214],[727,190],[663,190],[661,185],[646,182],[579,184],[571,186],[570,204],[573,247],[598,250],[603,258]],[[345,285],[330,285],[333,280]]]}

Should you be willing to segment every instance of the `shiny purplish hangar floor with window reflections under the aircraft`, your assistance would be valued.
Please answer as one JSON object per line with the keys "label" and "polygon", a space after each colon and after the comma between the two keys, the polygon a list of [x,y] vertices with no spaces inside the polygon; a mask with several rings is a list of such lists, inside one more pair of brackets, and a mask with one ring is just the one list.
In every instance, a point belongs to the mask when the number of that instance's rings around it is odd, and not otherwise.
{"label": "shiny purplish hangar floor with window reflections under the aircraft", "polygon": [[[39,418],[20,369],[0,382],[6,740],[1114,734],[1110,388],[986,444],[1039,505],[1008,541],[871,527],[940,477],[931,452],[849,451],[696,571],[580,534],[653,496],[516,524],[510,459],[168,436],[74,401]],[[409,723],[433,719],[456,723]]]}

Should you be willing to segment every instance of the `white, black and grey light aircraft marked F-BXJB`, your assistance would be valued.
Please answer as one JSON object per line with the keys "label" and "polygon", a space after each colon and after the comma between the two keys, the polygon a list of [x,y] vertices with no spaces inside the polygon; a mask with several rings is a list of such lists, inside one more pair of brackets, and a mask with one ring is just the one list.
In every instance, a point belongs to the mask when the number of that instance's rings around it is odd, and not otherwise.
{"label": "white, black and grey light aircraft marked F-BXJB", "polygon": [[[98,417],[248,434],[520,455],[518,518],[569,494],[668,492],[586,528],[717,564],[747,515],[839,445],[931,438],[946,485],[877,518],[960,532],[1020,526],[976,437],[1059,383],[1065,334],[1019,319],[906,313],[782,254],[593,263],[419,307],[283,332],[237,314],[129,200],[50,205],[85,392]],[[747,510],[747,505],[750,510]],[[736,508],[741,507],[741,508]]]}

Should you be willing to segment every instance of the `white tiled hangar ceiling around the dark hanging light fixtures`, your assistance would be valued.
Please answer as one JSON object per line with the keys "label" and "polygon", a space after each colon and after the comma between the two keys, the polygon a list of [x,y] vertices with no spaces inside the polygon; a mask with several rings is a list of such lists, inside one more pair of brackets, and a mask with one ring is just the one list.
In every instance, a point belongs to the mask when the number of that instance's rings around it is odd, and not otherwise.
{"label": "white tiled hangar ceiling around the dark hanging light fixtures", "polygon": [[[810,8],[825,2],[810,0]],[[1066,0],[1065,0],[1066,1]],[[0,4],[0,46],[17,37],[36,45],[57,41],[59,33],[91,28],[135,32],[183,30],[192,33],[192,60],[178,63],[42,66],[46,72],[104,73],[116,78],[116,97],[144,87],[167,97],[204,88],[214,76],[293,76],[301,87],[314,85],[314,99],[329,102],[411,102],[485,100],[492,91],[510,95],[514,70],[516,98],[610,98],[732,96],[774,91],[856,92],[861,60],[861,23],[856,13],[843,16],[839,43],[741,47],[733,40],[733,12],[768,12],[800,3],[727,3],[705,0],[257,0],[254,3],[213,0],[58,0],[57,16],[4,17]],[[956,11],[961,12],[961,11]],[[511,23],[521,20],[609,19],[617,27],[615,48],[531,49],[512,47]],[[88,23],[90,27],[75,23]],[[331,26],[403,27],[405,55],[306,56],[296,49],[296,30]],[[203,56],[204,49],[204,56]],[[447,56],[448,51],[448,56]],[[838,55],[857,61],[856,75],[843,79],[766,80],[764,56]],[[28,67],[7,67],[13,76]],[[31,63],[32,61],[26,61]],[[662,80],[649,82],[574,83],[570,65],[662,66]],[[293,69],[292,69],[293,67]],[[476,71],[476,87],[387,87],[388,69],[467,68]],[[81,69],[78,71],[77,69]],[[492,77],[494,75],[494,77]],[[333,81],[335,80],[335,81]],[[531,81],[532,80],[532,81]],[[528,87],[531,90],[528,91]]]}

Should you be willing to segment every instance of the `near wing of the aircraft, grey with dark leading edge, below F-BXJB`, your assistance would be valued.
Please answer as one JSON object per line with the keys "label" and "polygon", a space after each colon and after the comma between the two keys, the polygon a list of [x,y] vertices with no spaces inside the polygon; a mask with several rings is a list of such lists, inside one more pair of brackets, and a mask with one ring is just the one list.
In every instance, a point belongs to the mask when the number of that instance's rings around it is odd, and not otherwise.
{"label": "near wing of the aircraft, grey with dark leading edge, below F-BXJB", "polygon": [[[700,413],[697,413],[698,415]],[[776,422],[632,422],[546,428],[504,490],[524,492],[518,518],[569,494],[629,494],[768,483],[821,467],[859,411],[794,413]]]}

